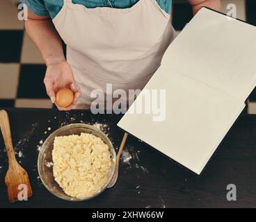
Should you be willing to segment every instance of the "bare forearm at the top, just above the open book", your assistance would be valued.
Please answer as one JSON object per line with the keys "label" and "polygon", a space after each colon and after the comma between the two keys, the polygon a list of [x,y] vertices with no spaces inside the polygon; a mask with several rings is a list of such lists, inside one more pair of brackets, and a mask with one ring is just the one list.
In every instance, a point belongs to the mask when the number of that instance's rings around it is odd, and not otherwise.
{"label": "bare forearm at the top, just above the open book", "polygon": [[221,10],[221,0],[189,0],[193,7],[193,13],[195,14],[202,7],[211,8],[216,11]]}

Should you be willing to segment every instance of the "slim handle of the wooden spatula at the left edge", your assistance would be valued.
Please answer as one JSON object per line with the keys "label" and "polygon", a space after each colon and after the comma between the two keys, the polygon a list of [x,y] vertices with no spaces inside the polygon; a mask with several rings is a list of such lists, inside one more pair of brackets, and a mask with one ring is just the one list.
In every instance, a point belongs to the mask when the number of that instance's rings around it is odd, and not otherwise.
{"label": "slim handle of the wooden spatula at the left edge", "polygon": [[0,128],[3,134],[4,143],[6,144],[9,164],[13,164],[16,162],[16,158],[13,150],[12,136],[10,134],[10,121],[6,110],[0,111]]}

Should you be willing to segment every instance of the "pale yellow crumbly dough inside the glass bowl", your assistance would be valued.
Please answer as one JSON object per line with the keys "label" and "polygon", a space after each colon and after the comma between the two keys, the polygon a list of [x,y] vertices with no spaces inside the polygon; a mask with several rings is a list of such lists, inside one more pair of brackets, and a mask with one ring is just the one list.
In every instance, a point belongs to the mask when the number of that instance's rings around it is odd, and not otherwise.
{"label": "pale yellow crumbly dough inside the glass bowl", "polygon": [[89,133],[55,137],[52,157],[54,178],[65,194],[87,198],[106,184],[111,156],[99,137]]}

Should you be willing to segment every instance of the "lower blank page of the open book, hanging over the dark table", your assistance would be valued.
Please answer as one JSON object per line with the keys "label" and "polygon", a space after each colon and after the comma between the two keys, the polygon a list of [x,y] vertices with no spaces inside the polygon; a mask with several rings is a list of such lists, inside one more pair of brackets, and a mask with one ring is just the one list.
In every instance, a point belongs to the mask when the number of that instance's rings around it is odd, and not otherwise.
{"label": "lower blank page of the open book, hanging over the dark table", "polygon": [[[164,67],[146,88],[166,89],[166,119],[127,113],[118,126],[200,174],[245,104]],[[140,99],[143,93],[131,108]]]}

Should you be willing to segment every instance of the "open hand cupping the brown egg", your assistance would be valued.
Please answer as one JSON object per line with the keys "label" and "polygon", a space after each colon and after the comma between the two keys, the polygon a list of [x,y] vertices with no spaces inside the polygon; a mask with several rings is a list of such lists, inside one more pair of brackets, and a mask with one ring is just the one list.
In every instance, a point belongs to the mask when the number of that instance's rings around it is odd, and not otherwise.
{"label": "open hand cupping the brown egg", "polygon": [[56,92],[58,92],[59,89],[68,87],[74,92],[73,103],[67,108],[59,107],[56,104],[58,110],[72,110],[81,96],[79,85],[75,83],[72,69],[66,61],[56,62],[49,65],[45,74],[44,83],[47,95],[50,97],[52,103],[55,103]]}

